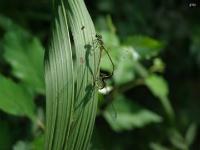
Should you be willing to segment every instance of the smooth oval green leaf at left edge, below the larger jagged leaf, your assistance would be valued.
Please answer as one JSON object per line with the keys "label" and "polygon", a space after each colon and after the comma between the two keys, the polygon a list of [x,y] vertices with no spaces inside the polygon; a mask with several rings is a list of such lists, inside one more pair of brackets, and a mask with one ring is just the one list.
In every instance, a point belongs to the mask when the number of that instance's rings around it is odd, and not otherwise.
{"label": "smooth oval green leaf at left edge, below the larger jagged leaf", "polygon": [[34,120],[35,105],[32,96],[19,84],[0,75],[0,109],[16,116]]}

